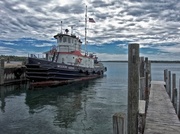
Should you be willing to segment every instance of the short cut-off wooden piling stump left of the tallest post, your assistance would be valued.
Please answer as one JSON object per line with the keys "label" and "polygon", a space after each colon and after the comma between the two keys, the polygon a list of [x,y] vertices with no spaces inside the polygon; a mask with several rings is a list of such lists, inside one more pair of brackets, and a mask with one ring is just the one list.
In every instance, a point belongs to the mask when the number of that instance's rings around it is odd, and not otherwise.
{"label": "short cut-off wooden piling stump left of the tallest post", "polygon": [[113,115],[113,134],[126,134],[126,116],[124,113]]}

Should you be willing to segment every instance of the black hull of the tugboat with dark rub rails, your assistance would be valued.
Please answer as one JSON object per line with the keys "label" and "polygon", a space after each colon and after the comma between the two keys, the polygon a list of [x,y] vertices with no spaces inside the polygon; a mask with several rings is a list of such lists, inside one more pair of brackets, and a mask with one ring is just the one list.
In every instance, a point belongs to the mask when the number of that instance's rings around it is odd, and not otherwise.
{"label": "black hull of the tugboat with dark rub rails", "polygon": [[38,58],[28,58],[26,64],[26,78],[30,81],[49,81],[49,80],[73,80],[83,77],[103,75],[105,68],[84,68],[73,65],[46,61]]}

